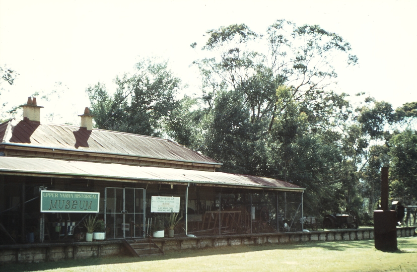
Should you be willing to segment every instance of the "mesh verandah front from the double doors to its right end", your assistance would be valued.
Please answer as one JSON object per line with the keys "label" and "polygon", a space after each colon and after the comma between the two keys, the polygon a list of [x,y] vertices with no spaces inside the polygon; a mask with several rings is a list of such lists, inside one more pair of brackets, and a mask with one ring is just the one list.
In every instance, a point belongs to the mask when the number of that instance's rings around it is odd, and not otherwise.
{"label": "mesh verandah front from the double doors to its right end", "polygon": [[[121,185],[121,184],[120,184]],[[303,191],[260,190],[204,184],[123,184],[105,187],[107,239],[153,235],[159,227],[168,236],[170,212],[152,210],[153,197],[177,198],[181,218],[175,237],[273,233],[302,230]],[[129,186],[129,187],[127,187]],[[155,210],[155,209],[154,209]],[[161,226],[162,225],[162,226]]]}

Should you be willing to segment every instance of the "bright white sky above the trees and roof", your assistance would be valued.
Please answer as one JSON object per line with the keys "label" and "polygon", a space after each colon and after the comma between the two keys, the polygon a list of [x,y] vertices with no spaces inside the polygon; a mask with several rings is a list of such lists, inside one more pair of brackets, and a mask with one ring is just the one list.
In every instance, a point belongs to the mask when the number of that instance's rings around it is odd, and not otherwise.
{"label": "bright white sky above the trees and roof", "polygon": [[13,86],[0,86],[0,103],[21,105],[35,92],[64,90],[38,105],[55,112],[49,121],[76,124],[90,105],[88,86],[101,82],[114,91],[114,78],[144,57],[168,60],[189,84],[185,92],[197,93],[198,74],[189,65],[200,55],[191,43],[198,47],[207,30],[221,26],[244,23],[261,33],[286,19],[320,25],[351,43],[359,64],[338,67],[335,91],[353,101],[365,92],[395,108],[417,101],[416,14],[414,0],[0,0],[0,65],[19,73]]}

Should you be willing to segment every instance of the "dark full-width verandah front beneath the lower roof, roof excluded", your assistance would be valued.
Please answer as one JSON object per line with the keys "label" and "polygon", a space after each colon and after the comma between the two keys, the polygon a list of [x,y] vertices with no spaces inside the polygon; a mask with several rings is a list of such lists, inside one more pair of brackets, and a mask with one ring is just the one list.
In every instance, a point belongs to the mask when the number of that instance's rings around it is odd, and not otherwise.
{"label": "dark full-width verandah front beneath the lower roof, roof excluded", "polygon": [[[167,237],[166,219],[171,213],[152,212],[153,196],[178,198],[181,220],[174,228],[175,237],[302,230],[302,191],[13,175],[3,175],[0,181],[4,189],[0,244],[82,241],[83,222],[90,216],[105,222],[107,240],[147,238],[156,222],[162,222]],[[75,191],[99,193],[98,212],[41,210],[42,193]],[[48,203],[54,208],[66,205],[59,200]]]}

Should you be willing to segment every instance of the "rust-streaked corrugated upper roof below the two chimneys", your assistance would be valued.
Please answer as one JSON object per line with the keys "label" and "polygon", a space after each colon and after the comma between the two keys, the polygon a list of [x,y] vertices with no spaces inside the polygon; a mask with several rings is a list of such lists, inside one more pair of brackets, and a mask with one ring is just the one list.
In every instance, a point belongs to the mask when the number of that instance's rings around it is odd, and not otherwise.
{"label": "rust-streaked corrugated upper roof below the two chimneys", "polygon": [[221,165],[184,146],[156,137],[72,125],[14,120],[0,124],[0,145],[96,152],[179,162]]}

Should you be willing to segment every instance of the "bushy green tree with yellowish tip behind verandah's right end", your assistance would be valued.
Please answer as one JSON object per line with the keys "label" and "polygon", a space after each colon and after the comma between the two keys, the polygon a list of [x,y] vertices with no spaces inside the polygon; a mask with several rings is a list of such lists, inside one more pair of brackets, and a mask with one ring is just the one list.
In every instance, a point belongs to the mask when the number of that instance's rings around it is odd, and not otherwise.
{"label": "bushy green tree with yellowish tip behind verandah's right end", "polygon": [[[359,178],[344,130],[351,121],[349,102],[345,95],[334,95],[308,112],[291,91],[277,91],[277,106],[284,110],[277,114],[269,137],[274,176],[307,189],[305,208],[310,215],[358,212]],[[355,141],[355,136],[351,134],[350,140]]]}

